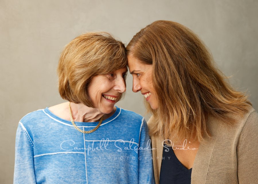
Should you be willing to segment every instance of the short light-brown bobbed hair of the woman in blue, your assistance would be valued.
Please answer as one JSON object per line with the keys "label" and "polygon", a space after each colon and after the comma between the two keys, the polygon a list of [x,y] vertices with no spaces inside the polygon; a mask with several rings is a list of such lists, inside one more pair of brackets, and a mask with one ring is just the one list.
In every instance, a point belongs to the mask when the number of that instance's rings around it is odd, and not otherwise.
{"label": "short light-brown bobbed hair of the woman in blue", "polygon": [[68,43],[59,59],[57,73],[60,96],[94,107],[87,92],[93,76],[126,67],[126,50],[106,32],[82,34]]}

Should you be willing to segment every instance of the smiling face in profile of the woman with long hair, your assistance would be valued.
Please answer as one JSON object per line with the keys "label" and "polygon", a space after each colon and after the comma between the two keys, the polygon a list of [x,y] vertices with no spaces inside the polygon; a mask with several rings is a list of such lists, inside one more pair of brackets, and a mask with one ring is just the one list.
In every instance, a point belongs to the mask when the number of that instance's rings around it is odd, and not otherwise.
{"label": "smiling face in profile of the woman with long hair", "polygon": [[140,91],[152,109],[157,109],[157,98],[152,83],[152,65],[143,64],[137,58],[128,56],[128,67],[133,76],[133,92]]}

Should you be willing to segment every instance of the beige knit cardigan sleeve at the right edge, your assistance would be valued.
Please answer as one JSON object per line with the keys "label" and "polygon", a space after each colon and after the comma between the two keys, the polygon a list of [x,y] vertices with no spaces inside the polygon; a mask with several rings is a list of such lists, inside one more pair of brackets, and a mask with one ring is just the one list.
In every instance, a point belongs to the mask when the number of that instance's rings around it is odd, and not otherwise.
{"label": "beige knit cardigan sleeve at the right edge", "polygon": [[258,183],[258,116],[252,112],[237,145],[237,175],[239,183]]}

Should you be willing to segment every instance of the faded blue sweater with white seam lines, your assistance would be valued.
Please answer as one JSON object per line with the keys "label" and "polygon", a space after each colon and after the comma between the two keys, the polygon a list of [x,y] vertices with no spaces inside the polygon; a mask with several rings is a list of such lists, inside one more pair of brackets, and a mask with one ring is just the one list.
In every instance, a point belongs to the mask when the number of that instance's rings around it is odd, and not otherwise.
{"label": "faded blue sweater with white seam lines", "polygon": [[117,107],[83,134],[46,108],[18,124],[13,183],[154,183],[152,159],[146,121],[134,112]]}

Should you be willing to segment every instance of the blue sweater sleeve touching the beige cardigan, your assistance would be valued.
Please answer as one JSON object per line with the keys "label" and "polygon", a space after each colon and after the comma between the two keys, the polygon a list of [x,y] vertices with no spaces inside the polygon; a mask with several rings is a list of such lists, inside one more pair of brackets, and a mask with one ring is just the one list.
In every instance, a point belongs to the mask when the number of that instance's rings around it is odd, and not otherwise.
{"label": "blue sweater sleeve touching the beige cardigan", "polygon": [[148,126],[144,118],[142,119],[140,139],[139,139],[139,183],[155,183],[153,174],[153,161],[151,153],[150,136]]}

